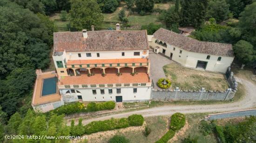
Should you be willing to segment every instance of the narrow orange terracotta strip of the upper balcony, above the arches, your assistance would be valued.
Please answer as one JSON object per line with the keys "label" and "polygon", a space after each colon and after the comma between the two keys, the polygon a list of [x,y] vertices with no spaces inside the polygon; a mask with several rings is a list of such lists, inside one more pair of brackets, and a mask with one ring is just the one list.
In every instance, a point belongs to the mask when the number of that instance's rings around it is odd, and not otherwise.
{"label": "narrow orange terracotta strip of the upper balcony, above the arches", "polygon": [[101,64],[101,63],[136,63],[148,62],[147,59],[129,58],[129,59],[99,59],[99,60],[67,60],[67,64]]}

